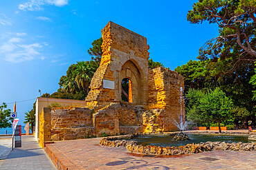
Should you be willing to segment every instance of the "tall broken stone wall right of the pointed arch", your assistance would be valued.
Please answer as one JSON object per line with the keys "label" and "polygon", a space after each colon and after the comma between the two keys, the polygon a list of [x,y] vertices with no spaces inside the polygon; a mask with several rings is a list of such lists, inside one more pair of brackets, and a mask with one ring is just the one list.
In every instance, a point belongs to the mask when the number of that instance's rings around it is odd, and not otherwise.
{"label": "tall broken stone wall right of the pointed arch", "polygon": [[[151,114],[155,111],[149,111],[149,131],[158,129],[158,131],[178,130],[174,120],[180,122],[180,115],[185,121],[185,105],[181,87],[184,87],[183,76],[165,67],[149,69],[149,100],[147,109],[164,109],[158,114]],[[158,122],[158,123],[156,123]],[[156,123],[156,124],[155,124]],[[152,127],[155,125],[157,127]],[[163,129],[160,129],[163,128]],[[147,131],[147,132],[149,132]]]}

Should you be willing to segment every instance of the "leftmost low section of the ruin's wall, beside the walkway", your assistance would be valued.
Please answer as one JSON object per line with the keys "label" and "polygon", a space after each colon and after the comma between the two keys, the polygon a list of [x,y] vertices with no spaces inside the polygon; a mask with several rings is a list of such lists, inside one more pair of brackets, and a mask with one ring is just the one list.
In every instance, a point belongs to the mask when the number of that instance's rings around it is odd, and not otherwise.
{"label": "leftmost low section of the ruin's wall, beside the walkway", "polygon": [[71,140],[93,136],[93,114],[89,108],[54,109],[44,107],[39,116],[40,146],[45,141]]}

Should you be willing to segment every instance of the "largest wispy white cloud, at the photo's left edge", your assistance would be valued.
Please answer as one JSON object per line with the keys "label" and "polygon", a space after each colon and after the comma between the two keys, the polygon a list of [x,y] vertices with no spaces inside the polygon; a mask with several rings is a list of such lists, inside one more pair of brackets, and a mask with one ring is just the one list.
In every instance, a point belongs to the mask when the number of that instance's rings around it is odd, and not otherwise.
{"label": "largest wispy white cloud, at the photo's left edge", "polygon": [[[10,33],[10,35],[26,36],[26,33]],[[26,43],[26,39],[20,37],[9,37],[5,43],[0,45],[0,57],[11,63],[30,61],[35,57],[44,60],[45,57],[40,53],[44,47],[43,43]]]}

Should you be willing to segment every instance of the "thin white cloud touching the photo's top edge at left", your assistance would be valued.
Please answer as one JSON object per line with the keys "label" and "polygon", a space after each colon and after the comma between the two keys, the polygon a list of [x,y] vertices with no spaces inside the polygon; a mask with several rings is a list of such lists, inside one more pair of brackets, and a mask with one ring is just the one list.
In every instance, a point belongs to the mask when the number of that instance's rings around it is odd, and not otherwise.
{"label": "thin white cloud touching the photo's top edge at left", "polygon": [[19,4],[19,10],[42,10],[42,6],[66,6],[68,0],[29,0],[26,3]]}

